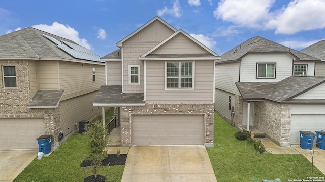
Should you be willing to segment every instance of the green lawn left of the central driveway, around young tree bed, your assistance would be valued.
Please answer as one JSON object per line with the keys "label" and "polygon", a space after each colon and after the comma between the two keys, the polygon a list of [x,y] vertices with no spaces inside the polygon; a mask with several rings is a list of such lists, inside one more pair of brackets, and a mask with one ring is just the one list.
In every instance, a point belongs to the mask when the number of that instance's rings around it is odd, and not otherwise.
{"label": "green lawn left of the central driveway, around young tree bed", "polygon": [[[80,167],[89,156],[89,136],[71,135],[49,157],[34,159],[14,181],[83,181],[92,175],[92,167]],[[123,171],[124,166],[104,166],[98,174],[105,176],[106,181],[121,181]]]}

